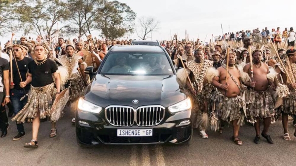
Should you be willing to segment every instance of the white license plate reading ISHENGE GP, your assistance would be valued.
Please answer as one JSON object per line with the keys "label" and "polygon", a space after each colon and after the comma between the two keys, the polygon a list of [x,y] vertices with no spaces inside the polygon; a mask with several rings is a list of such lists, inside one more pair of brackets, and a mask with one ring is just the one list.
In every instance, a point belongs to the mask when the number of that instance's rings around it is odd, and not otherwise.
{"label": "white license plate reading ISHENGE GP", "polygon": [[152,129],[117,129],[117,136],[152,136]]}

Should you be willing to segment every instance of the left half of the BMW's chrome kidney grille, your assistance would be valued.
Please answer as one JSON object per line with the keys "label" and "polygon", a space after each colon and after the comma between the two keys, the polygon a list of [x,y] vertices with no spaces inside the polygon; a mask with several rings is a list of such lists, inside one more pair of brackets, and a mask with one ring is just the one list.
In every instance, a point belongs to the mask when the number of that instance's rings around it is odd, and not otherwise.
{"label": "left half of the BMW's chrome kidney grille", "polygon": [[132,107],[109,107],[105,110],[108,122],[113,126],[133,126],[134,109]]}

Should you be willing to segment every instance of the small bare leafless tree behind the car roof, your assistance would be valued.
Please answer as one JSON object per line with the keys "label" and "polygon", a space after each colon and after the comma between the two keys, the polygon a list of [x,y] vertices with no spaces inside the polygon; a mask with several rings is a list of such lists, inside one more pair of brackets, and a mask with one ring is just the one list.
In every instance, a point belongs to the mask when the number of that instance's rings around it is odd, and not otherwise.
{"label": "small bare leafless tree behind the car roof", "polygon": [[[141,17],[138,19],[138,23],[140,24],[140,31],[137,31],[138,37],[142,40],[148,38],[148,34],[154,31],[157,31],[159,28],[159,21],[156,21],[153,17]],[[151,36],[150,36],[151,37]]]}

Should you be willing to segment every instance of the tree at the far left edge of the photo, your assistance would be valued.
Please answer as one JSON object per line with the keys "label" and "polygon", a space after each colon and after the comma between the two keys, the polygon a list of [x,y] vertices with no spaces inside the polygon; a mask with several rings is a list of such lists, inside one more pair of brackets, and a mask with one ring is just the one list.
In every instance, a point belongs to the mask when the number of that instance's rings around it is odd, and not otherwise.
{"label": "tree at the far left edge of the photo", "polygon": [[14,5],[18,0],[0,0],[0,36],[8,32],[19,30],[19,24],[16,24],[18,17],[13,12]]}

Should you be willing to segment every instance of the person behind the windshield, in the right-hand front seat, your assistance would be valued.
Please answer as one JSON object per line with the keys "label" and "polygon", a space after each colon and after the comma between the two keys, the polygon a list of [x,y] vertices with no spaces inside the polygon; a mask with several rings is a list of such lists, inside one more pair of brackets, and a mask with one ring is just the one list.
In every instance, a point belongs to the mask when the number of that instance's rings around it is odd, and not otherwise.
{"label": "person behind the windshield, in the right-hand front seat", "polygon": [[147,73],[162,73],[162,70],[164,69],[165,65],[161,65],[157,63],[156,56],[150,56],[148,58],[148,64],[143,65],[142,68]]}

